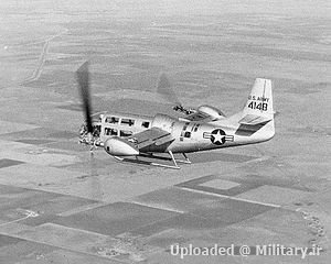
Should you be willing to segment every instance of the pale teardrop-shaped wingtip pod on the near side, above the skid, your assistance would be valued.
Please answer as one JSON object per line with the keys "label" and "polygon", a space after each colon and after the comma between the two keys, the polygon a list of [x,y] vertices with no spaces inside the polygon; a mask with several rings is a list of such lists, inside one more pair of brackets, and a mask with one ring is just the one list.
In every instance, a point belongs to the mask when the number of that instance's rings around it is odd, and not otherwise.
{"label": "pale teardrop-shaped wingtip pod on the near side, above the skid", "polygon": [[113,136],[104,143],[105,151],[113,156],[136,156],[139,150],[134,143],[128,142],[119,136]]}

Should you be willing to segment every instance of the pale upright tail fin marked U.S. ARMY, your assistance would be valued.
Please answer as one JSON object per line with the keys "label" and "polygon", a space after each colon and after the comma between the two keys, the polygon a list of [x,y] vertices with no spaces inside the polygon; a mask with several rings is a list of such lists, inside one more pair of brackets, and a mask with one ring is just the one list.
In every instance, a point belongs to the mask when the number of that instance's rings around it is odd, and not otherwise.
{"label": "pale upright tail fin marked U.S. ARMY", "polygon": [[270,79],[257,78],[255,80],[239,123],[256,124],[274,119]]}

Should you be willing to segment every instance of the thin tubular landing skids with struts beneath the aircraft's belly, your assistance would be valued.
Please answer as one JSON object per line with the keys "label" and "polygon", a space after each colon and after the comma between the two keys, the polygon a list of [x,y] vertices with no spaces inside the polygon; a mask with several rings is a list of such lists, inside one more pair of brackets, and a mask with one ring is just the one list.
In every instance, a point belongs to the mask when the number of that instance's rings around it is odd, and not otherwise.
{"label": "thin tubular landing skids with struts beneath the aircraft's belly", "polygon": [[[170,157],[163,157],[163,156],[157,156],[151,153],[140,153],[139,155],[135,156],[135,160],[131,158],[126,158],[126,157],[119,157],[119,156],[114,156],[116,160],[120,162],[129,162],[129,163],[137,163],[137,164],[142,164],[142,165],[150,165],[150,166],[157,166],[157,167],[166,167],[166,168],[174,168],[179,169],[181,168],[178,163],[184,163],[184,164],[191,164],[189,157],[186,156],[185,153],[182,153],[184,156],[183,160],[175,160],[173,156],[173,153],[171,151],[168,152]],[[149,162],[149,161],[143,161],[139,160],[138,157],[147,157],[147,158],[156,158],[156,160],[163,160],[163,161],[171,161],[173,165],[168,165],[168,164],[161,164],[161,163],[156,163],[156,162]]]}

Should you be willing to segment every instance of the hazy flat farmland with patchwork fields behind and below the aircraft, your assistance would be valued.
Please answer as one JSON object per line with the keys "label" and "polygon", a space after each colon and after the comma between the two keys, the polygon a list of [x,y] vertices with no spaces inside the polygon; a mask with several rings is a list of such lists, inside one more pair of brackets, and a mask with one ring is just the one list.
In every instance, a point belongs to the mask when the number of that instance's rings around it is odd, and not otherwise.
{"label": "hazy flat farmland with patchwork fields behind and below the aircraft", "polygon": [[[0,263],[329,263],[328,1],[0,0]],[[271,79],[276,134],[189,153],[180,169],[92,155],[78,143],[86,61],[93,112],[178,117],[157,92],[167,74],[184,106],[232,116]],[[234,255],[171,251],[215,244]]]}

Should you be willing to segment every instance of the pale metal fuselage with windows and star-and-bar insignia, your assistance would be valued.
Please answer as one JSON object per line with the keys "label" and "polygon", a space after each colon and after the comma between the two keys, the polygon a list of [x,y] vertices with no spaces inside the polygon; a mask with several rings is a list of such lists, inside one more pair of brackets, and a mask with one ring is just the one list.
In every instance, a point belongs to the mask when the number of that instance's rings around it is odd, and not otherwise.
{"label": "pale metal fuselage with windows and star-and-bar insignia", "polygon": [[214,122],[195,122],[177,119],[166,114],[145,117],[138,114],[104,113],[94,120],[99,139],[105,142],[111,136],[128,138],[152,127],[171,134],[173,140],[167,144],[150,145],[140,152],[190,153],[236,145],[253,144],[270,140],[274,134],[274,120],[263,125],[245,127],[228,119]]}

